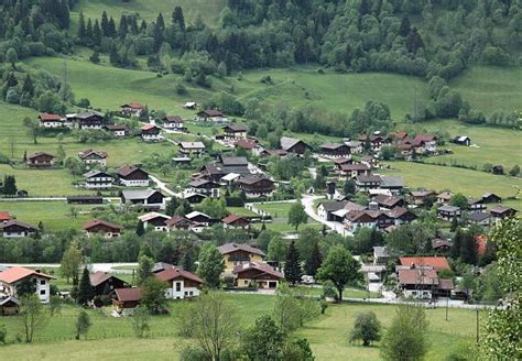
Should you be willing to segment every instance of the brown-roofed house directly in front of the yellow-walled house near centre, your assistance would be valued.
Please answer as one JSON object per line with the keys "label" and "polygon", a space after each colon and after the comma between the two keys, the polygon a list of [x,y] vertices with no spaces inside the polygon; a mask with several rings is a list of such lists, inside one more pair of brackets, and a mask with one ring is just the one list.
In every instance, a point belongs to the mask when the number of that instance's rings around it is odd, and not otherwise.
{"label": "brown-roofed house directly in front of the yellow-walled house near centre", "polygon": [[283,275],[272,266],[262,262],[238,264],[232,271],[233,283],[238,288],[278,288]]}

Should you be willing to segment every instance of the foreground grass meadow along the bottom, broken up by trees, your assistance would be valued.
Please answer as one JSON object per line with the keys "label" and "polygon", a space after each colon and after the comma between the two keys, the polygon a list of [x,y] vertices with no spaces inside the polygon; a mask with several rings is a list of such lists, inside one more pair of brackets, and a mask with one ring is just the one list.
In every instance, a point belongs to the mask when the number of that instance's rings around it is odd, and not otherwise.
{"label": "foreground grass meadow along the bottom, broken up by trees", "polygon": [[[273,309],[274,297],[261,295],[227,295],[240,315],[243,328],[253,324],[261,315]],[[155,316],[151,321],[151,338],[137,339],[131,324],[126,318],[106,317],[97,310],[88,310],[93,326],[88,340],[75,341],[74,322],[77,308],[67,306],[62,315],[55,316],[35,338],[35,343],[2,347],[0,354],[7,360],[172,360],[189,340],[176,335],[176,311],[181,303],[172,303],[172,316]],[[325,316],[320,316],[297,330],[297,335],[311,342],[316,360],[379,360],[379,348],[363,348],[348,343],[348,333],[358,311],[372,310],[383,327],[388,327],[394,307],[388,305],[342,304],[330,305]],[[449,320],[444,320],[444,309],[427,309],[429,321],[428,339],[431,349],[428,361],[444,360],[460,341],[471,341],[475,331],[475,313],[449,309]],[[8,339],[19,332],[18,318],[4,318]]]}

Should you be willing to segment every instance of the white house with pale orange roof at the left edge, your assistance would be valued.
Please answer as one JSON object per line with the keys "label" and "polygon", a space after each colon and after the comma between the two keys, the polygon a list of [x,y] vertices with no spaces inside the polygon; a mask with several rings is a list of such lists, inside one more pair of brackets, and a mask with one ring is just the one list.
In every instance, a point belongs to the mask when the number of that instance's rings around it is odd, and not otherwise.
{"label": "white house with pale orange roof at the left edge", "polygon": [[51,299],[51,281],[55,277],[40,272],[20,266],[9,267],[0,272],[0,299],[8,297],[18,297],[17,286],[30,280],[35,285],[35,294],[40,302],[47,304]]}

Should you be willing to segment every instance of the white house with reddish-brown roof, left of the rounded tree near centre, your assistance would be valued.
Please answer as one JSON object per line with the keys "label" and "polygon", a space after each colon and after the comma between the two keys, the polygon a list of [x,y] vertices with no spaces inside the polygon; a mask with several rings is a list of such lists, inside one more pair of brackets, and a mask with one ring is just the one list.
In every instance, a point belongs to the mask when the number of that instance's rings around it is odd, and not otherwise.
{"label": "white house with reddish-brown roof, left of the rounded tree near centre", "polygon": [[155,274],[160,281],[168,284],[166,298],[184,299],[199,296],[203,280],[180,267],[171,267]]}

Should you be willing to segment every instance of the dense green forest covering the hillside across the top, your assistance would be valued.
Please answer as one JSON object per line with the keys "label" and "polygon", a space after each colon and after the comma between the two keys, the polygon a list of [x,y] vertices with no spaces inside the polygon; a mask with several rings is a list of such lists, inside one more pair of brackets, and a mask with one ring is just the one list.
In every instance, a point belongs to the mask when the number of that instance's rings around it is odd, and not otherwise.
{"label": "dense green forest covering the hillside across the top", "polygon": [[200,15],[186,22],[176,7],[150,23],[139,14],[113,19],[100,10],[99,19],[86,19],[80,12],[70,29],[75,2],[0,0],[3,99],[42,111],[74,102],[59,79],[42,70],[31,78],[31,69],[15,64],[80,45],[91,50],[93,63],[106,54],[113,66],[138,67],[145,57],[149,70],[181,74],[202,87],[211,87],[210,75],[301,64],[415,75],[429,81],[432,99],[410,120],[515,123],[514,109],[486,119],[446,81],[475,64],[520,65],[521,0],[228,0],[214,28]]}

